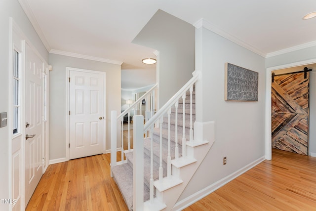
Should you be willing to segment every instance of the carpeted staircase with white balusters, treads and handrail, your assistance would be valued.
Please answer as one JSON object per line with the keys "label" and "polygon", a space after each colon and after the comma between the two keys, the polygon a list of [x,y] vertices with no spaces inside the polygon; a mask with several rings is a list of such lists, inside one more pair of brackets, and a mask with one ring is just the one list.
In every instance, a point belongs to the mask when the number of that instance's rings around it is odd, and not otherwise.
{"label": "carpeted staircase with white balusters, treads and handrail", "polygon": [[[194,83],[197,81],[197,77],[195,81],[192,81],[191,84],[187,83],[189,87],[187,90],[178,94],[180,97],[174,96],[175,99],[169,100],[170,106],[165,105],[160,109],[166,110],[165,113],[159,110],[156,114],[159,117],[155,119],[155,115],[141,128],[140,136],[138,136],[141,140],[136,141],[139,141],[138,144],[141,146],[141,150],[137,150],[137,152],[143,152],[143,158],[138,157],[138,160],[135,161],[138,153],[134,155],[137,147],[134,140],[134,150],[124,152],[126,161],[111,168],[130,211],[171,210],[212,145],[209,141],[194,140],[193,137],[193,123],[196,114]],[[164,107],[168,107],[168,109],[164,109]],[[154,127],[153,123],[156,120],[158,120],[159,127]],[[136,125],[137,123],[134,122],[134,132],[138,131],[135,130]],[[148,137],[142,138],[148,125],[151,125],[148,127],[150,134]],[[202,132],[202,130],[198,131]],[[134,134],[134,139],[135,137],[137,135]],[[201,139],[202,135],[197,135],[197,137]],[[143,172],[141,172],[143,178],[140,181],[143,183],[143,190],[137,192],[133,185],[137,186],[135,179],[138,180],[139,177],[135,176],[138,174],[133,172],[133,169],[142,163],[144,164]],[[142,185],[138,183],[138,186]],[[134,196],[135,194],[136,196]],[[135,204],[137,207],[133,208]]]}

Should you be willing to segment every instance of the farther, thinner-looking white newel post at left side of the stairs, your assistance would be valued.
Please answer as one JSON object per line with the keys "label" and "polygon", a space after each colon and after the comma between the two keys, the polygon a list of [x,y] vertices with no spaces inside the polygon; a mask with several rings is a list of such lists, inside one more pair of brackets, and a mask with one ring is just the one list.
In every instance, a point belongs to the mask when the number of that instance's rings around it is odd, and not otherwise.
{"label": "farther, thinner-looking white newel post at left side of the stairs", "polygon": [[117,111],[111,111],[111,176],[112,168],[117,165]]}

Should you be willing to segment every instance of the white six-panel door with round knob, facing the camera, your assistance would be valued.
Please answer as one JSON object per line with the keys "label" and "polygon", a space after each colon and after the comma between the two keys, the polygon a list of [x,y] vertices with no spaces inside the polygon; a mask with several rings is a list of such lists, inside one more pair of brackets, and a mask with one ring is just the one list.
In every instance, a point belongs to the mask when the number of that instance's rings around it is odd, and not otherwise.
{"label": "white six-panel door with round knob, facing the camera", "polygon": [[104,75],[70,70],[69,158],[103,153]]}

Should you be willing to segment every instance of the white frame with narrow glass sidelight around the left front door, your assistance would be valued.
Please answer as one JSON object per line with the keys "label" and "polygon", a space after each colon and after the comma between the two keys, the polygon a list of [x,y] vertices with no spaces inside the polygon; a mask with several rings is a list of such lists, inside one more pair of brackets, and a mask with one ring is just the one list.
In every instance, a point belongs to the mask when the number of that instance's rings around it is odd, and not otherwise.
{"label": "white frame with narrow glass sidelight around the left front door", "polygon": [[[7,127],[8,127],[8,137],[9,137],[9,172],[8,172],[8,176],[9,176],[9,196],[11,198],[11,200],[15,200],[13,198],[13,160],[12,160],[12,144],[13,144],[13,138],[19,137],[21,136],[21,160],[20,160],[20,168],[22,170],[21,175],[20,175],[20,206],[21,209],[24,210],[24,206],[25,206],[25,96],[24,96],[24,91],[22,89],[25,89],[25,54],[26,54],[26,50],[25,50],[25,45],[26,43],[32,48],[32,50],[36,53],[36,55],[40,58],[40,60],[44,63],[44,67],[48,67],[47,62],[45,61],[45,59],[40,55],[40,53],[38,52],[38,50],[36,49],[36,47],[34,47],[34,45],[32,44],[32,42],[29,41],[29,39],[24,35],[23,31],[20,29],[20,27],[16,24],[16,22],[13,20],[12,17],[9,18],[9,78],[8,78],[8,113],[7,113],[7,117],[8,117],[8,121],[7,121]],[[16,38],[14,39],[13,34],[16,34]],[[16,40],[18,39],[18,40]],[[13,90],[13,84],[12,84],[12,79],[13,79],[13,50],[15,49],[15,47],[17,47],[16,42],[23,42],[22,43],[22,47],[21,49],[19,49],[20,53],[22,53],[21,55],[21,61],[20,61],[20,76],[21,76],[21,80],[20,80],[20,133],[13,135],[12,131],[13,131],[13,127],[12,127],[12,119],[13,119],[13,115],[12,115],[12,107],[13,107],[13,102],[12,102],[12,90]],[[18,48],[18,47],[17,47]],[[47,68],[48,69],[48,68]],[[48,76],[49,77],[49,76]],[[48,78],[47,78],[48,80]],[[48,86],[47,86],[47,103],[48,103]],[[44,90],[43,90],[44,91]],[[46,147],[43,148],[43,157],[45,157],[45,161],[43,161],[43,165],[42,165],[42,173],[45,172],[45,170],[47,169],[48,166],[48,152],[49,152],[49,140],[48,140],[48,131],[49,131],[49,125],[48,125],[48,104],[46,105],[47,107],[47,119],[46,119],[46,134],[44,132],[44,128],[42,129],[42,135],[43,135],[43,146],[45,145]],[[45,137],[44,137],[45,134]],[[44,143],[44,141],[46,143]],[[11,204],[9,206],[9,211],[12,210],[12,207],[14,206],[14,204]],[[18,209],[18,208],[14,208],[14,209]],[[18,209],[20,210],[20,209]]]}

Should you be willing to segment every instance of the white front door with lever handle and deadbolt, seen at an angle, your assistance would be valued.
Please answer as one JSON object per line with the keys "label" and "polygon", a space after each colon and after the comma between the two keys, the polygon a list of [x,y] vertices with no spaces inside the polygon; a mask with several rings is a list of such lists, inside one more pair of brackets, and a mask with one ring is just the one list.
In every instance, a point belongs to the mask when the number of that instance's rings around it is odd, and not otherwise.
{"label": "white front door with lever handle and deadbolt, seen at an angle", "polygon": [[44,63],[25,45],[25,206],[43,173],[43,70]]}

